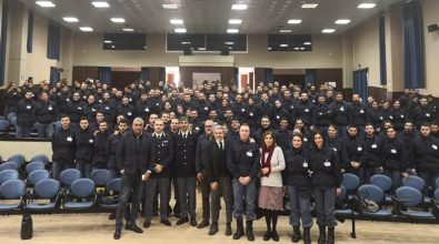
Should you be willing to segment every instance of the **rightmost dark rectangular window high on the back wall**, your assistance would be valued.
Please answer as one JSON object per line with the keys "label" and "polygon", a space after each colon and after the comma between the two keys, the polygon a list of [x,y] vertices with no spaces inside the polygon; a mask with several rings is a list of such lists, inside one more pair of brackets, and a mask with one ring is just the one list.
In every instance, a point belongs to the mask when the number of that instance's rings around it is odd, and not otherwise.
{"label": "rightmost dark rectangular window high on the back wall", "polygon": [[268,51],[310,52],[312,40],[310,34],[269,34]]}

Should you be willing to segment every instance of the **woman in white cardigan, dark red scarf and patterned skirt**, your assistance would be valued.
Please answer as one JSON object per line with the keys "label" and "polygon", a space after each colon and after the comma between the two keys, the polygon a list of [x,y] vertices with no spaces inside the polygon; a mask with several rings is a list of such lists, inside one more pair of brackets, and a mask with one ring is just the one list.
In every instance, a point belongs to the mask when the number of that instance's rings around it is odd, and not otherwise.
{"label": "woman in white cardigan, dark red scarf and patterned skirt", "polygon": [[263,241],[279,241],[276,225],[279,211],[283,210],[283,186],[281,171],[285,169],[282,149],[277,146],[272,131],[262,134],[261,153],[261,187],[259,191],[258,205],[263,210],[267,223],[267,232]]}

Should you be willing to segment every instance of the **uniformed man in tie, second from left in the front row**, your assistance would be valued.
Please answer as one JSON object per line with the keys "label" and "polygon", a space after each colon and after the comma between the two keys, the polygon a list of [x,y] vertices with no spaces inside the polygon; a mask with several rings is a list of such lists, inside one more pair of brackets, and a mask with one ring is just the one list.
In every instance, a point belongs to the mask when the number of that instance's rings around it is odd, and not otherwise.
{"label": "uniformed man in tie, second from left in the front row", "polygon": [[156,189],[159,187],[160,194],[160,223],[170,226],[169,222],[169,176],[170,166],[173,160],[174,148],[173,139],[170,134],[163,132],[164,123],[161,119],[154,121],[154,132],[152,133],[152,146],[154,148],[154,161],[149,162],[148,170],[151,171],[151,177],[146,183],[146,216],[143,227],[151,225],[152,202],[156,195]]}

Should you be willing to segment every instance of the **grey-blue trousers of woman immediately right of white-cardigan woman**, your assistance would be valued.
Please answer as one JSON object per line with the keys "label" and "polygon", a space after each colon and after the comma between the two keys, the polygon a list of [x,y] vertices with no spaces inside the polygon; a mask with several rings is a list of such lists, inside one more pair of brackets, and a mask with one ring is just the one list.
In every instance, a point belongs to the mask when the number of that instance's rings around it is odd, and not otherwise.
{"label": "grey-blue trousers of woman immediately right of white-cardigan woman", "polygon": [[288,196],[290,197],[290,224],[292,226],[300,226],[300,217],[302,218],[303,227],[312,226],[311,216],[311,189],[300,189],[293,185],[288,185]]}

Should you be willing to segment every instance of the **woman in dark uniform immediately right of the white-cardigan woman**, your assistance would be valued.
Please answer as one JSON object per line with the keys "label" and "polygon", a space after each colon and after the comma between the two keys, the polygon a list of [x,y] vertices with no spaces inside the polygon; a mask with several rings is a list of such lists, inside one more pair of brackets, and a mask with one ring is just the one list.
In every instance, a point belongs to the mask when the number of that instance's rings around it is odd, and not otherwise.
{"label": "woman in dark uniform immediately right of the white-cardigan woman", "polygon": [[310,213],[311,177],[308,163],[308,150],[303,146],[303,136],[292,135],[292,149],[285,153],[287,161],[286,185],[290,197],[290,224],[293,228],[292,242],[298,243],[300,236],[300,217],[303,226],[303,243],[310,244],[312,216]]}

